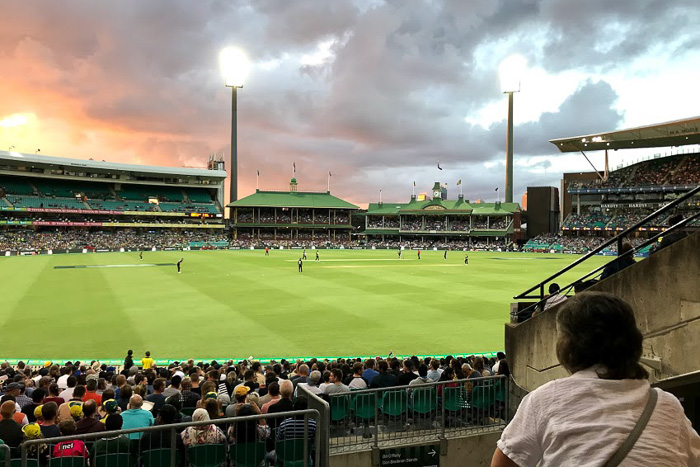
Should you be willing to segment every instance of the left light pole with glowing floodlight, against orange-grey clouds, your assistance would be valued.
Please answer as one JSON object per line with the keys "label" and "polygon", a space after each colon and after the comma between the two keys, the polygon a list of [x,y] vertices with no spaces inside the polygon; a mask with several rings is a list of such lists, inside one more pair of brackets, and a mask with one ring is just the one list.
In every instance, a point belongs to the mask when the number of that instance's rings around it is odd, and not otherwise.
{"label": "left light pole with glowing floodlight, against orange-grey clouds", "polygon": [[[238,199],[238,88],[243,87],[243,81],[248,76],[250,64],[245,53],[236,48],[228,47],[219,55],[221,74],[227,87],[231,88],[231,179],[229,188],[229,203]],[[229,213],[229,218],[231,215]]]}

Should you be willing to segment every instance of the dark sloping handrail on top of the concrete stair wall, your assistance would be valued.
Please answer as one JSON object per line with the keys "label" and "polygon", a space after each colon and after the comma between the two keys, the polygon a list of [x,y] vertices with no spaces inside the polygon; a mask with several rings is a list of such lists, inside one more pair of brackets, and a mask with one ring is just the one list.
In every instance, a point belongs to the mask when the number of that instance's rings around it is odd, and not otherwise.
{"label": "dark sloping handrail on top of the concrete stair wall", "polygon": [[[649,221],[651,221],[651,220],[653,220],[653,219],[659,217],[659,216],[662,215],[662,214],[665,214],[666,212],[670,211],[671,209],[675,208],[675,207],[678,206],[679,204],[683,203],[684,201],[686,201],[686,200],[692,198],[693,196],[695,196],[695,195],[697,195],[697,194],[699,194],[699,193],[700,193],[700,186],[697,186],[697,187],[695,187],[694,189],[692,189],[692,190],[688,191],[687,193],[685,193],[683,196],[680,196],[680,197],[676,198],[676,199],[673,200],[671,203],[668,203],[668,204],[666,204],[665,206],[662,206],[661,208],[657,209],[656,211],[654,211],[653,213],[649,214],[647,217],[645,217],[645,218],[642,219],[641,221],[639,221],[639,222],[637,222],[636,224],[632,225],[631,227],[628,227],[627,229],[625,229],[624,231],[622,231],[621,233],[619,233],[617,236],[615,236],[615,237],[613,237],[613,238],[611,238],[611,239],[609,239],[609,240],[603,242],[603,243],[600,244],[598,247],[596,247],[594,250],[591,250],[590,252],[586,253],[585,255],[583,255],[582,257],[578,258],[576,261],[574,261],[573,263],[569,264],[569,265],[566,266],[565,268],[563,268],[563,269],[561,269],[560,271],[558,271],[558,272],[552,274],[551,276],[549,276],[548,278],[546,278],[546,279],[544,279],[543,281],[539,282],[538,284],[536,284],[536,285],[530,287],[530,288],[527,289],[525,292],[522,292],[522,293],[516,295],[515,297],[513,297],[513,298],[516,299],[516,300],[524,299],[524,298],[536,298],[536,299],[538,299],[538,302],[537,302],[537,303],[532,304],[532,305],[528,306],[527,308],[518,311],[516,314],[517,314],[517,315],[527,314],[528,312],[532,312],[533,309],[535,309],[537,306],[541,306],[541,305],[547,300],[547,298],[545,297],[545,285],[548,284],[549,282],[552,282],[554,279],[556,279],[557,277],[561,276],[561,275],[564,274],[565,272],[567,272],[567,271],[573,269],[574,267],[578,266],[579,264],[581,264],[581,263],[587,261],[587,260],[588,260],[589,258],[591,258],[592,256],[597,255],[598,253],[600,253],[601,251],[603,251],[604,249],[606,249],[608,246],[610,246],[610,245],[612,245],[612,244],[617,244],[617,251],[619,252],[619,251],[622,249],[622,242],[623,242],[624,238],[625,238],[629,233],[632,233],[632,232],[636,231],[639,227],[642,227],[642,226],[645,225],[647,222],[649,222]],[[688,217],[688,218],[686,218],[686,219],[683,219],[681,222],[678,222],[677,224],[675,224],[675,225],[673,225],[673,226],[670,226],[670,227],[669,227],[668,229],[666,229],[665,231],[658,233],[657,235],[655,235],[655,236],[653,236],[652,238],[650,238],[650,239],[648,239],[647,241],[645,241],[643,244],[638,245],[638,246],[637,246],[636,248],[634,248],[634,249],[632,250],[632,252],[629,253],[629,254],[634,254],[636,251],[638,251],[638,250],[640,250],[640,249],[642,249],[642,248],[644,248],[644,247],[646,247],[646,246],[648,246],[648,245],[651,245],[651,244],[652,244],[654,241],[656,241],[658,238],[660,238],[660,237],[662,237],[662,236],[664,236],[664,235],[668,235],[669,233],[672,233],[672,232],[674,232],[674,231],[677,231],[678,229],[683,228],[684,226],[686,226],[686,225],[690,224],[691,222],[693,222],[695,219],[700,219],[700,212],[697,212],[697,213],[695,213],[694,215],[692,215],[692,216],[690,216],[690,217]],[[623,255],[623,256],[624,256],[624,255]],[[618,257],[618,258],[619,258],[619,257]],[[587,278],[593,277],[593,275],[594,275],[595,273],[597,273],[598,271],[601,271],[601,270],[604,269],[604,268],[605,268],[605,265],[600,266],[599,268],[596,268],[595,270],[593,270],[593,271],[591,271],[591,272],[585,274],[584,276],[582,276],[582,277],[580,277],[579,279],[573,281],[572,283],[566,285],[565,287],[562,287],[562,288],[561,288],[560,294],[564,295],[564,294],[568,293],[568,292],[574,287],[575,284],[581,283],[582,281],[586,280]],[[537,293],[536,295],[532,295],[532,292],[535,292],[535,291],[537,291],[538,293]]]}

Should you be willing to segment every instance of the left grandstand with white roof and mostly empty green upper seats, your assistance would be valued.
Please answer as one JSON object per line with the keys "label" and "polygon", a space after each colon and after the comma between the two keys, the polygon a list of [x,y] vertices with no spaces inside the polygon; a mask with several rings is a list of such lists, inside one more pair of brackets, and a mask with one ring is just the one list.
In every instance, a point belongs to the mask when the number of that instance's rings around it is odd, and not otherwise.
{"label": "left grandstand with white roof and mostly empty green upper seats", "polygon": [[[157,245],[186,246],[172,240],[169,229],[181,232],[223,231],[223,181],[226,173],[212,162],[212,170],[134,166],[0,151],[0,226],[5,237],[32,238],[33,234],[57,237],[38,242],[72,249],[90,245],[89,234],[127,236],[136,230],[158,229],[165,234]],[[84,240],[63,241],[71,229],[86,235]],[[87,231],[86,231],[87,229]],[[77,242],[77,243],[76,243]],[[16,241],[5,242],[16,245]],[[68,244],[70,243],[70,245]],[[122,245],[106,242],[110,248]],[[139,247],[146,246],[140,239]],[[26,246],[26,243],[25,243]]]}

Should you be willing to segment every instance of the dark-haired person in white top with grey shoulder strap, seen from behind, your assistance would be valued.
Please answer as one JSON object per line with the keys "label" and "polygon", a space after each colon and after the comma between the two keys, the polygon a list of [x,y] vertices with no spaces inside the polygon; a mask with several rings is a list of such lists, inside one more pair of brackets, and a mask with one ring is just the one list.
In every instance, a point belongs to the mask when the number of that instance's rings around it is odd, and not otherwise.
{"label": "dark-haired person in white top with grey shoulder strap, seen from behind", "polygon": [[700,465],[700,436],[678,399],[651,389],[639,363],[642,333],[632,307],[582,292],[557,313],[556,352],[571,373],[526,395],[501,434],[492,466],[604,465],[658,400],[624,465]]}

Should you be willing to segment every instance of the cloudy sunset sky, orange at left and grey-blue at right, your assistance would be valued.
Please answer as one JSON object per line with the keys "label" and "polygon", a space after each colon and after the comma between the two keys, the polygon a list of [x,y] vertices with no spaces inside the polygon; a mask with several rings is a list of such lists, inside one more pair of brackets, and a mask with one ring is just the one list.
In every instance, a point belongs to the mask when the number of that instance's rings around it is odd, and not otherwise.
{"label": "cloudy sunset sky, orange at left and grey-blue at right", "polygon": [[[238,197],[289,186],[366,206],[447,183],[495,201],[514,96],[514,200],[589,170],[552,138],[694,117],[697,0],[3,0],[0,149],[205,167],[230,154],[218,56],[243,50]],[[619,151],[611,167],[663,152]],[[603,154],[589,154],[597,168]],[[438,170],[438,162],[443,170]],[[256,172],[260,171],[259,181]],[[499,191],[495,188],[499,187]]]}

